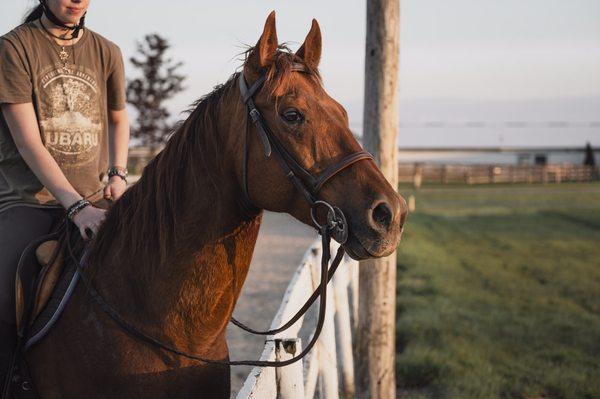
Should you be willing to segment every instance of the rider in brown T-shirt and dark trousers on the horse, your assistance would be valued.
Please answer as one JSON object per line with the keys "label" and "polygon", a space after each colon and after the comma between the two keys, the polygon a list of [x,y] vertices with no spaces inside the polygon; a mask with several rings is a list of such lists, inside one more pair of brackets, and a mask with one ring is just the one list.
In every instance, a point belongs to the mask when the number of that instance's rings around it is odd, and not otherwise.
{"label": "rider in brown T-shirt and dark trousers on the horse", "polygon": [[16,340],[14,281],[23,249],[65,209],[87,238],[105,215],[91,203],[116,200],[126,188],[123,58],[84,28],[88,5],[40,0],[0,37],[0,386]]}

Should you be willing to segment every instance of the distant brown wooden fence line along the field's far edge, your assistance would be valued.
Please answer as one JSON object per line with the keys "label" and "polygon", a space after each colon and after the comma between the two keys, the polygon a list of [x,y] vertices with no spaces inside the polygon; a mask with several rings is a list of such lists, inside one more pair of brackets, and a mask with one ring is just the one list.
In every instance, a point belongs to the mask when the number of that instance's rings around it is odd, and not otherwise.
{"label": "distant brown wooden fence line along the field's far edge", "polygon": [[590,182],[599,178],[599,167],[584,165],[398,165],[398,181],[417,187],[422,183],[561,183]]}

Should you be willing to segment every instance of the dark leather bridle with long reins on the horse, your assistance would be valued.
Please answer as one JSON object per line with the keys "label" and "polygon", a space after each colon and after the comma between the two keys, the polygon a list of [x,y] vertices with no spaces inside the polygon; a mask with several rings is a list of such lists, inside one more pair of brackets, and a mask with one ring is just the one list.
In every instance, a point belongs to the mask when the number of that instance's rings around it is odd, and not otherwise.
{"label": "dark leather bridle with long reins on the horse", "polygon": [[[305,68],[298,64],[294,66],[292,69],[297,72],[306,72]],[[274,155],[275,159],[277,159],[280,167],[283,169],[285,175],[292,182],[292,184],[296,187],[296,189],[304,196],[306,201],[309,203],[311,207],[311,218],[315,227],[318,229],[321,234],[322,241],[322,256],[321,256],[321,281],[319,286],[315,289],[313,294],[308,298],[306,303],[300,308],[300,310],[285,324],[282,326],[267,330],[267,331],[257,331],[253,330],[244,324],[237,321],[235,318],[231,318],[233,324],[238,327],[258,335],[273,335],[280,333],[282,331],[287,330],[291,327],[298,319],[300,319],[310,308],[310,306],[316,301],[317,298],[320,297],[319,301],[319,313],[317,317],[317,325],[315,328],[315,332],[309,341],[308,345],[300,352],[297,356],[292,357],[291,359],[285,361],[263,361],[263,360],[234,360],[234,361],[226,361],[226,360],[213,360],[206,359],[202,356],[198,356],[196,354],[186,353],[179,349],[176,349],[164,342],[161,342],[155,337],[148,335],[147,333],[139,330],[137,327],[133,326],[130,322],[125,320],[106,300],[100,295],[100,293],[96,290],[92,282],[88,279],[85,271],[83,269],[83,262],[77,260],[75,254],[73,253],[73,248],[70,239],[70,222],[67,220],[66,223],[66,241],[67,241],[67,252],[68,256],[75,262],[77,265],[79,274],[81,276],[81,280],[86,286],[87,292],[92,297],[92,299],[100,306],[100,308],[115,321],[123,330],[130,333],[131,335],[139,338],[142,341],[155,345],[161,349],[164,349],[167,352],[171,352],[173,354],[186,357],[192,360],[199,360],[209,364],[219,364],[219,365],[229,365],[229,366],[258,366],[258,367],[282,367],[292,364],[300,359],[302,359],[308,352],[312,349],[312,347],[316,344],[317,339],[321,333],[323,328],[323,324],[325,322],[325,309],[327,303],[327,283],[331,280],[331,277],[335,273],[337,267],[341,263],[345,251],[342,246],[348,239],[348,224],[346,221],[346,217],[343,212],[329,204],[328,202],[319,199],[318,193],[321,187],[330,180],[332,177],[340,173],[342,170],[348,168],[349,166],[355,164],[358,161],[365,159],[373,159],[373,156],[366,151],[358,151],[352,153],[350,155],[345,156],[339,162],[326,167],[319,175],[313,176],[310,172],[304,169],[296,159],[285,149],[285,147],[281,144],[281,142],[277,139],[277,137],[273,134],[273,132],[268,128],[265,123],[260,111],[256,108],[254,104],[253,97],[260,90],[260,88],[265,83],[265,75],[262,75],[257,79],[256,82],[248,88],[243,72],[239,74],[238,82],[240,93],[242,96],[242,101],[246,104],[248,109],[248,115],[252,119],[260,140],[263,145],[265,157],[270,157]],[[254,211],[258,213],[260,211],[259,208],[254,206],[250,200],[249,192],[248,192],[248,153],[249,153],[249,126],[246,122],[246,142],[244,145],[244,160],[243,160],[243,195],[244,202],[243,205],[247,210]],[[321,224],[317,220],[317,209],[319,207],[324,207],[327,212],[326,222]],[[337,250],[337,253],[329,266],[329,261],[331,259],[330,253],[330,242],[331,238],[338,241],[341,245]],[[85,258],[85,255],[84,255]]]}

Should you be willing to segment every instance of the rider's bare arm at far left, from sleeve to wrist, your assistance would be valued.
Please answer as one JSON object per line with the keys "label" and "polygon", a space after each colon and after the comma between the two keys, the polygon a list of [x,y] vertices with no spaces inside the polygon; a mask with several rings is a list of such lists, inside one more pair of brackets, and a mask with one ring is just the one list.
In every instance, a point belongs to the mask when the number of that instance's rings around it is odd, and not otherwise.
{"label": "rider's bare arm at far left, from sleeve to wrist", "polygon": [[0,106],[21,157],[39,181],[65,208],[80,200],[81,195],[69,183],[42,143],[33,104],[5,103]]}

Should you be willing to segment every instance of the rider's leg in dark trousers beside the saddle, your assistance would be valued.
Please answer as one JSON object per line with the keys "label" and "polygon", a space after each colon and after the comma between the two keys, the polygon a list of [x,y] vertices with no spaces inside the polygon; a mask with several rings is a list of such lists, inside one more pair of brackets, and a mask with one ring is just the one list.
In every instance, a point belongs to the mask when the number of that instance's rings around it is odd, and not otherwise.
{"label": "rider's leg in dark trousers beside the saddle", "polygon": [[0,212],[0,385],[16,341],[15,272],[35,238],[51,231],[60,210],[18,205]]}

